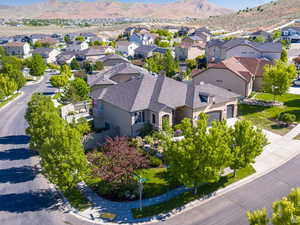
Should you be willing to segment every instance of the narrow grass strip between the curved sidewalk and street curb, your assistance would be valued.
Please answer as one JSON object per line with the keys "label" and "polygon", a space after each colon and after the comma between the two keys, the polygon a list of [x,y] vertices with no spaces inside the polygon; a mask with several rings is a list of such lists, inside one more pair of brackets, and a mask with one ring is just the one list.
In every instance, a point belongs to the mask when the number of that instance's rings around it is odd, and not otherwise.
{"label": "narrow grass strip between the curved sidewalk and street curb", "polygon": [[201,197],[212,194],[220,188],[224,188],[238,180],[241,180],[251,174],[255,173],[255,169],[252,166],[248,166],[244,169],[237,171],[236,177],[233,177],[232,174],[228,174],[225,177],[222,177],[219,182],[209,183],[201,186],[198,190],[198,194],[194,194],[193,190],[182,193],[175,198],[172,198],[168,201],[150,205],[144,207],[141,211],[138,208],[132,209],[132,214],[134,218],[144,218],[158,215],[160,213],[168,213],[169,211],[184,206],[185,204],[199,199]]}

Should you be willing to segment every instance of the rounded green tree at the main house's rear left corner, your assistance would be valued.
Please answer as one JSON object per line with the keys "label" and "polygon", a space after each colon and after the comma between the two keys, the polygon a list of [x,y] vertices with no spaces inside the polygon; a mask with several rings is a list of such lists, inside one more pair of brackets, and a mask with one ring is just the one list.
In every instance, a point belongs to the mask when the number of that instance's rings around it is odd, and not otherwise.
{"label": "rounded green tree at the main house's rear left corner", "polygon": [[63,100],[70,102],[87,100],[89,92],[90,88],[87,83],[81,78],[75,78],[65,88]]}

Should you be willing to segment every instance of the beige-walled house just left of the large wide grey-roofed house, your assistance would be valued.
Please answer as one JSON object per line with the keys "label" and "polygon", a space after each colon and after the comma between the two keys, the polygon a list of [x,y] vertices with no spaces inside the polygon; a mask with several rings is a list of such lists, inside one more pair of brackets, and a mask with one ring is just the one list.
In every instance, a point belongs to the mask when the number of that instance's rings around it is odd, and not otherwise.
{"label": "beige-walled house just left of the large wide grey-roofed house", "polygon": [[175,47],[175,56],[179,61],[195,59],[205,54],[205,44],[182,43]]}

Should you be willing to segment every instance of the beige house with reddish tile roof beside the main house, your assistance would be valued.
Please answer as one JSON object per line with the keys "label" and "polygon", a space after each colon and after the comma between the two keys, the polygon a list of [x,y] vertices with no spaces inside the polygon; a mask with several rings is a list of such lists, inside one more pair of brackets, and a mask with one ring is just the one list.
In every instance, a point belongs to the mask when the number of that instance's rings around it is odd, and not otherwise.
{"label": "beige house with reddish tile roof beside the main house", "polygon": [[272,61],[250,57],[231,57],[220,63],[209,64],[206,70],[193,72],[193,83],[210,83],[247,97],[252,90],[262,88],[265,65]]}

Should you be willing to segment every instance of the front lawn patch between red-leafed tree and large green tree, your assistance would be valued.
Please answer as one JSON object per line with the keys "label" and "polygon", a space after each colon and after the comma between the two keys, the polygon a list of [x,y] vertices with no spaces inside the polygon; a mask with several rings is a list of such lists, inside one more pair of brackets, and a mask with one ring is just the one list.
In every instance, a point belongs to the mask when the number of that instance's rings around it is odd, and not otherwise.
{"label": "front lawn patch between red-leafed tree and large green tree", "polygon": [[144,198],[152,198],[164,194],[179,186],[178,182],[169,176],[166,168],[144,169],[138,171],[137,174],[148,179],[144,183]]}

